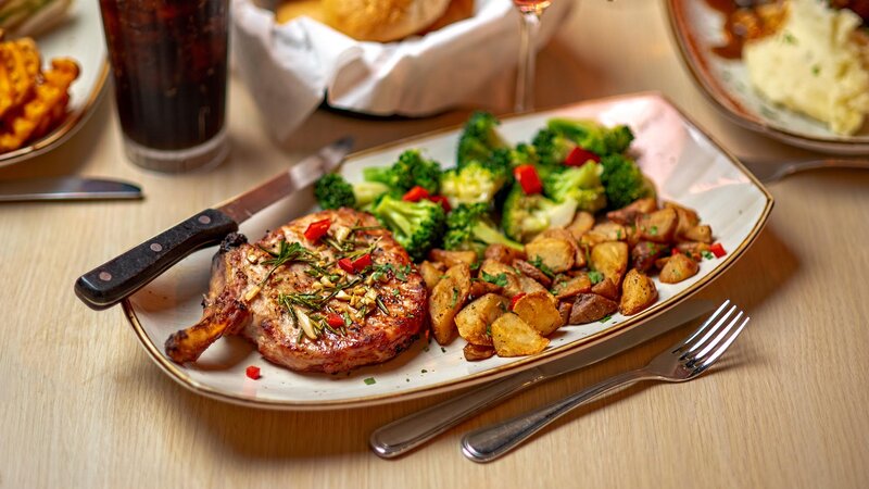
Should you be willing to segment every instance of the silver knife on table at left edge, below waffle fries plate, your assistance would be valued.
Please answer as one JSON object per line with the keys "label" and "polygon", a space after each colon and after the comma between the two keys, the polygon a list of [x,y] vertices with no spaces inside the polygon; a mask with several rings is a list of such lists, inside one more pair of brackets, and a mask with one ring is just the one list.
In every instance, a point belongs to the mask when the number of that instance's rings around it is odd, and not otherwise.
{"label": "silver knife on table at left edge, below waffle fries plate", "polygon": [[54,177],[0,181],[0,202],[141,198],[142,190],[138,186],[103,178]]}

